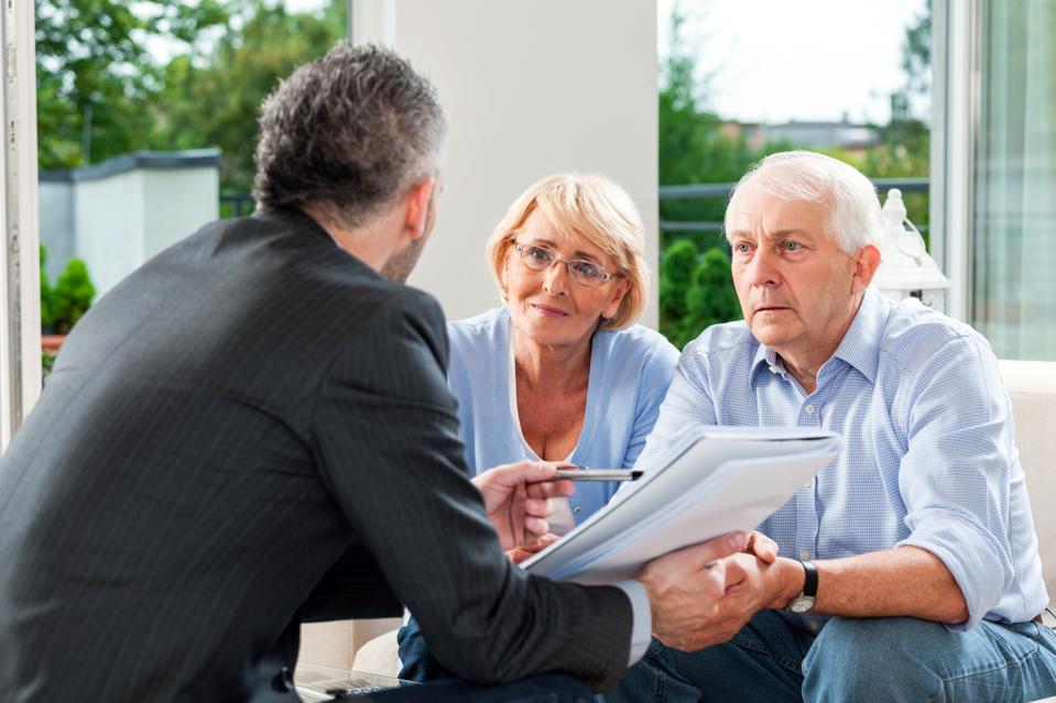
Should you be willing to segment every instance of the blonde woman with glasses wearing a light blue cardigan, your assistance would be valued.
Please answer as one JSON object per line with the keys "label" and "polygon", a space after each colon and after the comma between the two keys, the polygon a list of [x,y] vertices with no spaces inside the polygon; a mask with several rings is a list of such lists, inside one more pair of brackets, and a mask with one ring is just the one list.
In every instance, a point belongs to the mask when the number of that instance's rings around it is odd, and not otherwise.
{"label": "blonde woman with glasses wearing a light blue cardigan", "polygon": [[[678,361],[634,323],[649,283],[643,229],[622,188],[580,174],[532,185],[499,222],[488,260],[504,305],[447,326],[448,385],[473,473],[523,459],[634,464]],[[583,521],[618,487],[577,484],[552,528]],[[400,640],[401,678],[444,677],[413,620]]]}

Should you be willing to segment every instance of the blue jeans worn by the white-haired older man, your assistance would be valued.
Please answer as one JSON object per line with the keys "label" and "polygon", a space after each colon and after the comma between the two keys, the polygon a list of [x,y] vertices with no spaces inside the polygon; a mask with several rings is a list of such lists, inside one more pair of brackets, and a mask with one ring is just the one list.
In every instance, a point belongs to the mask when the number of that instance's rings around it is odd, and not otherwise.
{"label": "blue jeans worn by the white-haired older man", "polygon": [[1056,635],[983,620],[835,617],[817,637],[761,611],[697,652],[653,640],[602,701],[1033,701],[1056,694]]}

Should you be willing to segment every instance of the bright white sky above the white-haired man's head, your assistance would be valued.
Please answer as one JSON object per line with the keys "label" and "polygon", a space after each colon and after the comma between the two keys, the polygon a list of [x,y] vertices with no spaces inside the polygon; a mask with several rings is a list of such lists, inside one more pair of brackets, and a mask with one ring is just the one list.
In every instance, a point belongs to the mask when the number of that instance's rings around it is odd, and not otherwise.
{"label": "bright white sky above the white-haired man's head", "polygon": [[[668,53],[676,0],[657,0]],[[742,122],[886,123],[904,81],[902,42],[925,0],[679,0],[684,45],[708,81],[706,107]]]}

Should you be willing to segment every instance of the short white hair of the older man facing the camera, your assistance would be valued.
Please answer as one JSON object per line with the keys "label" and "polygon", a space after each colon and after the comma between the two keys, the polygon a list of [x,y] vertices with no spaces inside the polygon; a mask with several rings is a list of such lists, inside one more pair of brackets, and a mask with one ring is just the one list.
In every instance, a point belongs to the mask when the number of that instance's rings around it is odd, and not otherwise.
{"label": "short white hair of the older man facing the camera", "polygon": [[836,240],[846,254],[853,254],[866,244],[880,244],[883,215],[877,188],[853,166],[806,151],[766,156],[733,188],[723,223],[727,238],[733,231],[740,200],[738,195],[749,183],[784,200],[828,205],[826,234]]}

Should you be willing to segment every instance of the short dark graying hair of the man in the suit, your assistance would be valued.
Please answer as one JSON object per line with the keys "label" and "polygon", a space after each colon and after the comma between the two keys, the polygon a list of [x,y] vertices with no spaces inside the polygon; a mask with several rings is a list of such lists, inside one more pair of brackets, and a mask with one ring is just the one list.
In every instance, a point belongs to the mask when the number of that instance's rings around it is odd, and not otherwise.
{"label": "short dark graying hair of the man in the suit", "polygon": [[253,196],[357,227],[436,175],[446,130],[436,88],[411,64],[341,42],[264,100]]}

